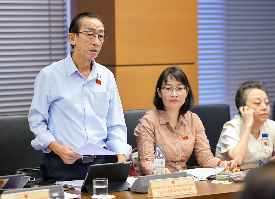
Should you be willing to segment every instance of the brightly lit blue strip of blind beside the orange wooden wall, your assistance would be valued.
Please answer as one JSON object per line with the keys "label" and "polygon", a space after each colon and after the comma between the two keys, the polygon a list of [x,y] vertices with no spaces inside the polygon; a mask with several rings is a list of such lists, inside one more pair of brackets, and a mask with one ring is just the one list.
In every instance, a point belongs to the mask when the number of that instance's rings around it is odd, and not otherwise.
{"label": "brightly lit blue strip of blind beside the orange wooden wall", "polygon": [[198,0],[199,104],[227,104],[225,0]]}

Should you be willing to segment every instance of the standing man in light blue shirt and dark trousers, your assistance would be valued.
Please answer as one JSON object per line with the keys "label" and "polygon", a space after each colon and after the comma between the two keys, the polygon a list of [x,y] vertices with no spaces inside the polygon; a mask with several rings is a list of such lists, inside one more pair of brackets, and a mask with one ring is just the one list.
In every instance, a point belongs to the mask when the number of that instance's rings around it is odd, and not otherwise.
{"label": "standing man in light blue shirt and dark trousers", "polygon": [[45,153],[44,184],[84,179],[89,165],[108,162],[73,152],[87,143],[119,153],[118,162],[131,152],[114,75],[94,60],[107,38],[99,16],[77,15],[68,34],[74,51],[36,77],[29,124],[32,146]]}

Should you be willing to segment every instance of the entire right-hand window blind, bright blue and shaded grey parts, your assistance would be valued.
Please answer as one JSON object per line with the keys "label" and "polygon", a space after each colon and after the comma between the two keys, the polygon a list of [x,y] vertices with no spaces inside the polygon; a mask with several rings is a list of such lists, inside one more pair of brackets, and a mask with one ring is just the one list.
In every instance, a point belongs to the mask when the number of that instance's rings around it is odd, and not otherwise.
{"label": "entire right-hand window blind, bright blue and shaded grey parts", "polygon": [[229,104],[248,80],[268,87],[275,101],[275,2],[198,0],[199,104]]}

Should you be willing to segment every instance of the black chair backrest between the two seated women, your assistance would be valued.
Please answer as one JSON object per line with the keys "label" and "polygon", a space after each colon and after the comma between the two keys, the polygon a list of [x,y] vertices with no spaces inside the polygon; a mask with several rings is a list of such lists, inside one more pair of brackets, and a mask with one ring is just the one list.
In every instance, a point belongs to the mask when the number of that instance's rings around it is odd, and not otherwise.
{"label": "black chair backrest between the two seated women", "polygon": [[[230,120],[229,105],[196,105],[190,110],[199,116],[211,148],[216,149],[223,125]],[[186,162],[189,166],[198,165],[194,152]]]}

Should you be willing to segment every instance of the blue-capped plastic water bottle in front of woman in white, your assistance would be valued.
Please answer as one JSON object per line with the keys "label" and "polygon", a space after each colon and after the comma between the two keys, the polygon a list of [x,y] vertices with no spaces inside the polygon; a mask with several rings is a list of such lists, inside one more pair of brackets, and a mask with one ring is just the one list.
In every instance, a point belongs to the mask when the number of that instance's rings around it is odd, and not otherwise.
{"label": "blue-capped plastic water bottle in front of woman in white", "polygon": [[271,156],[269,151],[267,133],[262,133],[262,145],[261,145],[261,151],[260,151],[260,157],[259,157],[259,166],[262,166],[264,164],[268,164],[269,162],[271,162],[270,158]]}

